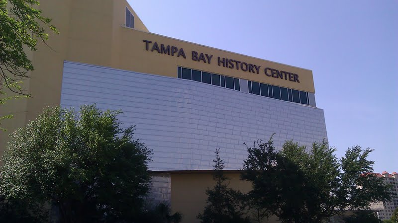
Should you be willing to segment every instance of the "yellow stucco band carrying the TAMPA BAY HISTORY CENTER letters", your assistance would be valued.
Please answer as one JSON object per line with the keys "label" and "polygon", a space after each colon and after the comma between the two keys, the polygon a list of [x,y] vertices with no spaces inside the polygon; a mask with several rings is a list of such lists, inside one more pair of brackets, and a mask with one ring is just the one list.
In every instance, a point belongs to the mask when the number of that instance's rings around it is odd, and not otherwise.
{"label": "yellow stucco band carrying the TAMPA BAY HISTORY CENTER letters", "polygon": [[[310,70],[235,54],[224,50],[210,48],[199,44],[177,40],[148,32],[130,30],[121,27],[121,33],[122,39],[120,40],[120,42],[124,44],[124,47],[122,49],[124,52],[122,52],[121,54],[123,56],[120,58],[120,68],[124,70],[177,77],[177,66],[182,66],[216,74],[223,74],[243,79],[259,81],[263,83],[270,83],[312,93],[315,92],[312,71]],[[148,44],[148,50],[146,50],[146,43],[143,42],[143,40],[148,40],[152,42]],[[164,53],[158,53],[157,50],[152,51],[152,47],[155,42],[159,45],[159,48],[161,48],[161,44],[163,44],[165,47],[175,46],[179,50],[183,48],[186,58],[184,58],[183,56],[178,57],[177,53],[172,56]],[[207,62],[207,59],[206,63],[204,63],[203,60],[192,60],[192,51],[198,52],[198,54],[203,53],[203,55],[212,55],[210,64]],[[247,64],[260,66],[259,74],[257,74],[257,71],[255,69],[253,70],[256,73],[244,72],[241,70],[241,68],[237,70],[235,69],[236,63],[233,63],[234,69],[223,67],[222,64],[220,64],[221,66],[219,66],[218,57],[220,57],[221,60],[223,58],[228,58],[240,62],[245,62]],[[289,77],[288,79],[285,79],[285,76],[284,79],[267,76],[264,71],[265,68],[272,68],[279,71],[286,71],[289,73],[297,74],[300,82],[290,81]],[[271,74],[271,71],[268,71],[268,74]]]}

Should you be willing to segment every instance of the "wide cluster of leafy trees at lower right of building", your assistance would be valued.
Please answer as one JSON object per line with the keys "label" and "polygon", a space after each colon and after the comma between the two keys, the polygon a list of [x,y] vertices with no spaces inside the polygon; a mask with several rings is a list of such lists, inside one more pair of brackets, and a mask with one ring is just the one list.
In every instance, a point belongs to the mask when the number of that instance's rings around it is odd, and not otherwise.
{"label": "wide cluster of leafy trees at lower right of building", "polygon": [[346,209],[369,209],[391,198],[389,186],[367,159],[372,149],[347,149],[337,159],[326,142],[309,151],[288,141],[275,151],[272,138],[248,148],[242,179],[253,183],[250,196],[282,222],[322,223]]}

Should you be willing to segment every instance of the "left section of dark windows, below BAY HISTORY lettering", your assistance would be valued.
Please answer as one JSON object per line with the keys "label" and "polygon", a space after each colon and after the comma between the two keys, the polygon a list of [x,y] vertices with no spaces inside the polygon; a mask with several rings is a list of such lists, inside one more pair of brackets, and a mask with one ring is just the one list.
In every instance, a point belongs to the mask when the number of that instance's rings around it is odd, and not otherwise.
{"label": "left section of dark windows, below BAY HISTORY lettering", "polygon": [[189,68],[177,67],[178,78],[195,80],[202,83],[208,83],[229,89],[240,90],[239,78],[212,74],[204,71],[198,71]]}

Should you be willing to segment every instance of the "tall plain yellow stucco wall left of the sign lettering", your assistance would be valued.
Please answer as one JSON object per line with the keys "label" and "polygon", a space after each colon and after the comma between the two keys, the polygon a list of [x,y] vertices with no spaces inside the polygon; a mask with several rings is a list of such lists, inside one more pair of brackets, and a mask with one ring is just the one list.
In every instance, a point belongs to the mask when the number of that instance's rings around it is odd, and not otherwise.
{"label": "tall plain yellow stucco wall left of the sign lettering", "polygon": [[39,9],[52,19],[60,34],[50,33],[48,46],[39,41],[37,51],[26,51],[34,71],[28,73],[30,78],[24,80],[23,87],[31,98],[8,101],[0,107],[0,116],[14,115],[2,121],[7,132],[0,131],[0,155],[9,133],[35,119],[44,107],[60,104],[65,60],[119,67],[115,53],[122,47],[119,39],[126,6],[135,17],[135,29],[148,31],[126,0],[40,0]]}

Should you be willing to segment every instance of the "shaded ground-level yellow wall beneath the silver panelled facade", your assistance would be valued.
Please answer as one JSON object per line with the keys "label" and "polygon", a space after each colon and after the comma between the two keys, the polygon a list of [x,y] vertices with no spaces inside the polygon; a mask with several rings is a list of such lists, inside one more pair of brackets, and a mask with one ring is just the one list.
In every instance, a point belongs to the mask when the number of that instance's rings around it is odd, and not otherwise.
{"label": "shaded ground-level yellow wall beneath the silver panelled facade", "polygon": [[[235,190],[247,193],[251,183],[239,179],[238,171],[226,171],[225,176],[230,178],[229,186]],[[210,171],[187,171],[186,173],[171,173],[171,206],[172,211],[184,215],[182,223],[199,223],[196,218],[206,206],[207,188],[214,186]],[[275,217],[264,219],[263,223],[277,223]]]}

